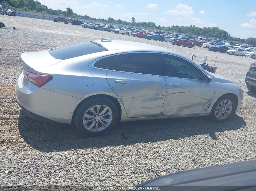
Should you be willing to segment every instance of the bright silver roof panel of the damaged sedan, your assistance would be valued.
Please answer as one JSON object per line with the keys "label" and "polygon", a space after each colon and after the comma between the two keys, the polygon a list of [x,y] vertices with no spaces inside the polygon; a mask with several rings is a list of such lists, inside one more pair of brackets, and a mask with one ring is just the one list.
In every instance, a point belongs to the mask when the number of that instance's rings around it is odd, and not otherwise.
{"label": "bright silver roof panel of the damaged sedan", "polygon": [[108,50],[119,50],[122,49],[123,52],[134,52],[134,51],[148,51],[148,52],[162,52],[171,53],[177,55],[178,53],[171,51],[169,49],[162,48],[160,46],[155,46],[151,44],[138,43],[125,40],[112,40],[101,42],[101,40],[95,40],[94,42],[101,44]]}

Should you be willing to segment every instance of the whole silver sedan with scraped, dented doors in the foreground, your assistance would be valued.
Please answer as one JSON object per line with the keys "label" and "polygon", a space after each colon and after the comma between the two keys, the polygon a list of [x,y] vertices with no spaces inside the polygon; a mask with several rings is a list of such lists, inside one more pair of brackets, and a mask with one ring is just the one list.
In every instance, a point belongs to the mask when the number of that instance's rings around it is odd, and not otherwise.
{"label": "whole silver sedan with scraped, dented doors in the foreground", "polygon": [[16,99],[38,120],[74,122],[98,135],[117,121],[210,116],[238,111],[242,90],[169,49],[102,39],[21,55]]}

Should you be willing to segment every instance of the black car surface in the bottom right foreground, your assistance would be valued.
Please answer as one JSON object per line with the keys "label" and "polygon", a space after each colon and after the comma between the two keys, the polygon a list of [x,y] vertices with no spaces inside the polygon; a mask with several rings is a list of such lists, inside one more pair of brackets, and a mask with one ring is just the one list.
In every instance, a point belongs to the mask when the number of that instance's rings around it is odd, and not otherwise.
{"label": "black car surface in the bottom right foreground", "polygon": [[[158,190],[256,190],[256,160],[230,163],[169,174],[138,186]],[[137,187],[138,187],[137,186]]]}

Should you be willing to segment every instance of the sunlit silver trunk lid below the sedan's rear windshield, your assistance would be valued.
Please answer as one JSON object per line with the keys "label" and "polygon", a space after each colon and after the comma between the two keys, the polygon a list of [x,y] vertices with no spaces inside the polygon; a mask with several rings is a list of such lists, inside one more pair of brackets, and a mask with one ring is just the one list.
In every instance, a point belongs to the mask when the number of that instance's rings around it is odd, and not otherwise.
{"label": "sunlit silver trunk lid below the sedan's rear windshield", "polygon": [[23,53],[21,55],[23,69],[28,72],[32,72],[33,68],[49,66],[62,61],[61,59],[55,59],[48,51],[49,50],[34,53]]}

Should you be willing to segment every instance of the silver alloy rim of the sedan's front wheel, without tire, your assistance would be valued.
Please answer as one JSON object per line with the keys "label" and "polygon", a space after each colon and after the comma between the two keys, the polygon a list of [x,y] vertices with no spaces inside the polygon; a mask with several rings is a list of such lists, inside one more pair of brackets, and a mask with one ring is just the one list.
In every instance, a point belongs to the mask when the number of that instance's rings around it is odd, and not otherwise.
{"label": "silver alloy rim of the sedan's front wheel, without tire", "polygon": [[230,100],[222,100],[215,110],[215,116],[220,120],[225,119],[231,113],[232,108],[233,105]]}

